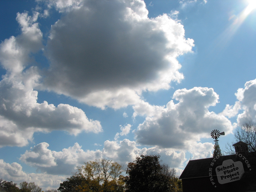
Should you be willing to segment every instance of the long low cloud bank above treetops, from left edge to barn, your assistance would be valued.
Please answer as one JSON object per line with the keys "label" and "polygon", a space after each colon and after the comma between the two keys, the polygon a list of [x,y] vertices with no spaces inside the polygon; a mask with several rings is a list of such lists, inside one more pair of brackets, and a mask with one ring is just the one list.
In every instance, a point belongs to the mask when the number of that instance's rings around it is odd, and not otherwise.
{"label": "long low cloud bank above treetops, from left edge to barn", "polygon": [[140,154],[160,154],[164,163],[177,170],[180,170],[179,167],[182,167],[183,162],[187,160],[184,151],[177,152],[173,149],[159,147],[139,148],[135,141],[128,139],[107,140],[104,142],[103,150],[96,151],[84,151],[78,143],[62,151],[52,151],[48,147],[49,144],[40,143],[26,151],[20,158],[21,161],[37,168],[41,173],[26,173],[20,164],[16,162],[9,164],[0,159],[0,178],[16,183],[35,182],[45,189],[57,189],[61,182],[76,171],[76,166],[95,159],[107,158],[126,166]]}

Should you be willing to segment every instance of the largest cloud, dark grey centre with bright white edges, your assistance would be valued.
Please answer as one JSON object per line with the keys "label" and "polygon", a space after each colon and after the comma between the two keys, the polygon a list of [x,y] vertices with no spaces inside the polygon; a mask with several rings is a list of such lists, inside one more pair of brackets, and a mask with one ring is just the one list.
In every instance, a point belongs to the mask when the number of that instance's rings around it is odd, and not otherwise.
{"label": "largest cloud, dark grey centre with bright white edges", "polygon": [[144,1],[84,0],[52,26],[44,89],[101,108],[134,104],[183,79],[176,57],[193,42],[166,14],[148,18]]}

